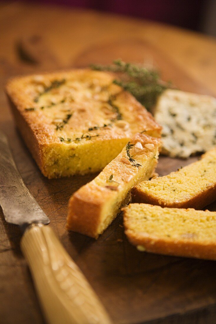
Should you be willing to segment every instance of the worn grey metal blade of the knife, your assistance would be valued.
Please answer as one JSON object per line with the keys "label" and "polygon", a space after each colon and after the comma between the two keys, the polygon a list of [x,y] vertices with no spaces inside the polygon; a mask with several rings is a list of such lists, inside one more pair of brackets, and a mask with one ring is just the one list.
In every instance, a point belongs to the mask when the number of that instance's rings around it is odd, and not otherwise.
{"label": "worn grey metal blade of the knife", "polygon": [[47,215],[25,186],[14,163],[6,136],[0,131],[0,204],[8,223],[48,224]]}

